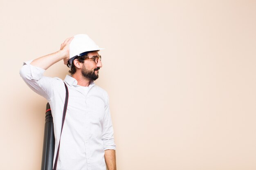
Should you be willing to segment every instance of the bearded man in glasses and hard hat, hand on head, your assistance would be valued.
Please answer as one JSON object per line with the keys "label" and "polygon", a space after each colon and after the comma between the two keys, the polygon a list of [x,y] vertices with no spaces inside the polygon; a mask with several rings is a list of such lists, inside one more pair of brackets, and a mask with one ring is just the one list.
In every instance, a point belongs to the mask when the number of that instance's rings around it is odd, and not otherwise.
{"label": "bearded man in glasses and hard hat, hand on head", "polygon": [[[45,97],[52,110],[55,152],[61,136],[57,170],[116,170],[115,143],[108,94],[94,84],[102,67],[99,46],[88,35],[67,38],[55,53],[25,62],[20,75],[27,85]],[[71,68],[65,77],[69,99],[61,134],[65,86],[57,77],[45,77],[44,71],[64,60]]]}

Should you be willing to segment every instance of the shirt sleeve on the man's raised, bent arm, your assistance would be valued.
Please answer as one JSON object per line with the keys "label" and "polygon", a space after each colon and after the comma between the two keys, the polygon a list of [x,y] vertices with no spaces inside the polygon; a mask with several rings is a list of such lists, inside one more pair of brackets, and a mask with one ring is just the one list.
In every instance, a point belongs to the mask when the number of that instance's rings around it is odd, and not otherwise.
{"label": "shirt sleeve on the man's raised, bent arm", "polygon": [[31,65],[32,61],[23,63],[20,69],[20,76],[34,92],[50,100],[53,96],[52,84],[58,80],[57,78],[43,76],[45,70]]}

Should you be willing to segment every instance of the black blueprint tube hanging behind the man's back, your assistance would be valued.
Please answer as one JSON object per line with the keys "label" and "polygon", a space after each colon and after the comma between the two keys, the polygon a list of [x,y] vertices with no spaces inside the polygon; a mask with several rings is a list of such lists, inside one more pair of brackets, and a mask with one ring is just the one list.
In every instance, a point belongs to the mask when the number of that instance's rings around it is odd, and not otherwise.
{"label": "black blueprint tube hanging behind the man's back", "polygon": [[[46,104],[46,111],[49,110],[49,103]],[[52,170],[55,137],[52,121],[52,111],[49,110],[45,113],[45,134],[43,141],[43,156],[41,170]]]}

